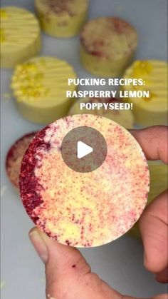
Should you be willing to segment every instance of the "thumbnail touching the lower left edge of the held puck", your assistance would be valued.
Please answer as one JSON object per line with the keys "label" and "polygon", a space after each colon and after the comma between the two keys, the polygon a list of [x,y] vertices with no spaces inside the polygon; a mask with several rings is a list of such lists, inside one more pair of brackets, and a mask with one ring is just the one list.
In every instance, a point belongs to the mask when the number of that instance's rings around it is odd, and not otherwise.
{"label": "thumbnail touching the lower left edge of the held puck", "polygon": [[43,263],[46,263],[48,260],[48,250],[45,241],[41,237],[41,234],[38,233],[38,230],[31,230],[29,233],[29,238]]}

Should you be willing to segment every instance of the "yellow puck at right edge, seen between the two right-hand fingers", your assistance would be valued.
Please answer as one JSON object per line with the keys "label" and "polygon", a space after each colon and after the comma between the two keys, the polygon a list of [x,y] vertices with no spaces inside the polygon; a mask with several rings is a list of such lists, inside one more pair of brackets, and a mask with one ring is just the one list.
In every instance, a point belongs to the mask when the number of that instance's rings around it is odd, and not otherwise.
{"label": "yellow puck at right edge, seen between the two right-hand fingers", "polygon": [[[168,187],[168,168],[161,161],[148,161],[150,174],[150,190],[147,198],[147,204],[151,203],[160,193]],[[140,237],[140,230],[137,223],[129,232],[135,237]]]}

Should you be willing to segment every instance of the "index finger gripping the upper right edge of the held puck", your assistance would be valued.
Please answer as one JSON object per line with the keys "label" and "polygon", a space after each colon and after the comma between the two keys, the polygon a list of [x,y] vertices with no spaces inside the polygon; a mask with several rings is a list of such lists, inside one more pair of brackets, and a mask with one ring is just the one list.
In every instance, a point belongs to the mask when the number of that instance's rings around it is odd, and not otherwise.
{"label": "index finger gripping the upper right edge of the held puck", "polygon": [[147,160],[162,160],[164,163],[168,163],[167,126],[152,126],[131,130],[130,133],[140,143]]}

